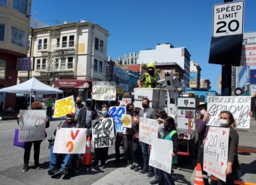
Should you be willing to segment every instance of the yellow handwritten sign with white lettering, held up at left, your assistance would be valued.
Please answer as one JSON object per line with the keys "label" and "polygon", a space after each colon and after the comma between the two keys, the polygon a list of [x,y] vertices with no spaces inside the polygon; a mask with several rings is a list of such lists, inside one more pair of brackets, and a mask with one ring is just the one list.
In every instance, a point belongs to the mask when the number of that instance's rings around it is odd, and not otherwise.
{"label": "yellow handwritten sign with white lettering, held up at left", "polygon": [[54,118],[63,117],[70,112],[75,112],[75,102],[73,96],[68,96],[55,102]]}

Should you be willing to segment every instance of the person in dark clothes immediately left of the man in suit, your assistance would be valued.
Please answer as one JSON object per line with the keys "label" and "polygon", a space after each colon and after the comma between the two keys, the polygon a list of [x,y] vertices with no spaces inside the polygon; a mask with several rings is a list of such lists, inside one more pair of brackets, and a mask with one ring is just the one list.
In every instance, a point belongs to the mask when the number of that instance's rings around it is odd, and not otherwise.
{"label": "person in dark clothes immediately left of the man in suit", "polygon": [[133,137],[131,141],[128,141],[130,151],[131,151],[131,159],[133,165],[130,167],[131,170],[139,171],[139,163],[138,163],[138,146],[139,146],[139,125],[136,123],[136,120],[139,118],[139,111],[141,108],[135,107],[134,110],[131,112],[131,126],[134,130]]}

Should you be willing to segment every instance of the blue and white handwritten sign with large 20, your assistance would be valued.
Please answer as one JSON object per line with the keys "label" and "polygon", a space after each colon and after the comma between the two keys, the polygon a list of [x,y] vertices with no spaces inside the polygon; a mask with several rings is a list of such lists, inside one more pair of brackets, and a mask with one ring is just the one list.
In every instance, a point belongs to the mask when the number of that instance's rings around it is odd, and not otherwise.
{"label": "blue and white handwritten sign with large 20", "polygon": [[125,107],[110,107],[109,116],[114,119],[115,131],[124,132],[126,130],[122,123],[122,114],[126,114]]}

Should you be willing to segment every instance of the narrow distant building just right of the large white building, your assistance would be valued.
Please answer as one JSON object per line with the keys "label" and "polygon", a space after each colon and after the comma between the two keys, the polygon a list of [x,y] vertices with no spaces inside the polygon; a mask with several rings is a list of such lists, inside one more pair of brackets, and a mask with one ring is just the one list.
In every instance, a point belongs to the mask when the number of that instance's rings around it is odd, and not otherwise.
{"label": "narrow distant building just right of the large white building", "polygon": [[190,62],[189,88],[199,88],[201,68],[198,62]]}

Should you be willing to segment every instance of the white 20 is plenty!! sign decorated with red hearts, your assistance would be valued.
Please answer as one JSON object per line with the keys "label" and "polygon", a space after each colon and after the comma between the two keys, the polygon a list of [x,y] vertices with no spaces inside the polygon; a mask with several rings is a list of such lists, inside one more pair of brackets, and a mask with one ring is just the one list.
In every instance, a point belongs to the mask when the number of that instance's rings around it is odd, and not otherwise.
{"label": "white 20 is plenty!! sign decorated with red hearts", "polygon": [[229,128],[210,126],[204,145],[204,171],[226,182]]}

